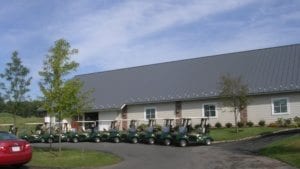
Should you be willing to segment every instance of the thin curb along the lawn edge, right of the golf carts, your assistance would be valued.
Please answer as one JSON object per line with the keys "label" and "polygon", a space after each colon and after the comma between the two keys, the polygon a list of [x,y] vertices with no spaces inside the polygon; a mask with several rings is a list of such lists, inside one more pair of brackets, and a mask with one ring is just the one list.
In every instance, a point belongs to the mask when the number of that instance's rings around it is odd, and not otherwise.
{"label": "thin curb along the lawn edge, right of the golf carts", "polygon": [[267,134],[260,134],[260,135],[257,135],[257,136],[245,137],[245,138],[236,139],[236,140],[214,141],[213,143],[214,144],[219,144],[219,143],[247,141],[247,140],[252,140],[252,139],[256,139],[256,138],[269,137],[269,136],[273,136],[273,135],[290,134],[290,133],[300,133],[300,128],[283,129],[283,130],[273,131],[273,132],[267,133]]}

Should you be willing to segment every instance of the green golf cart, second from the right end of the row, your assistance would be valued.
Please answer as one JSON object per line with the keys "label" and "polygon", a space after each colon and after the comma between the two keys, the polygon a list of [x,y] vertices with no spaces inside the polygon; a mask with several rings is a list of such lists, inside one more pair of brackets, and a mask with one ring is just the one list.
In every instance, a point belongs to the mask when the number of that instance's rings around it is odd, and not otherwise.
{"label": "green golf cart, second from the right end of the row", "polygon": [[164,119],[164,126],[162,131],[156,135],[156,141],[158,143],[164,144],[166,146],[171,145],[173,137],[172,137],[172,129],[173,129],[174,119]]}

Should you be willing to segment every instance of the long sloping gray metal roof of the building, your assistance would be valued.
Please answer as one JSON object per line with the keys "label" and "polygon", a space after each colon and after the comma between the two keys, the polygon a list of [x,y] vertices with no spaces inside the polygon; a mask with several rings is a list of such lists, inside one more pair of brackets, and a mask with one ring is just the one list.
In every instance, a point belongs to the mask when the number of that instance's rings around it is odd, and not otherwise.
{"label": "long sloping gray metal roof of the building", "polygon": [[242,76],[250,94],[300,91],[300,44],[78,75],[94,109],[218,96],[221,75]]}

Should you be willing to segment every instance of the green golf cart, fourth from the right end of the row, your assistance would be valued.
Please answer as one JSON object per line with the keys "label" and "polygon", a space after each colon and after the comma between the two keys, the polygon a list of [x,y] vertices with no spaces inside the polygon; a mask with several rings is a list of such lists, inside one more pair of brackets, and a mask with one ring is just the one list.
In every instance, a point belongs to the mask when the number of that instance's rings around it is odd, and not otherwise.
{"label": "green golf cart, fourth from the right end of the row", "polygon": [[130,120],[129,129],[126,133],[121,134],[121,141],[136,144],[139,142],[139,134],[137,132],[137,120]]}

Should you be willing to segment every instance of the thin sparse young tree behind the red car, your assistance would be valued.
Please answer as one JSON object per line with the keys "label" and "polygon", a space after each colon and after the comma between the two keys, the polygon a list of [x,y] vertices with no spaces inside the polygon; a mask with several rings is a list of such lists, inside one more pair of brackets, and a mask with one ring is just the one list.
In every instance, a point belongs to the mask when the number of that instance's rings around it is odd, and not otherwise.
{"label": "thin sparse young tree behind the red car", "polygon": [[18,57],[18,52],[12,53],[11,62],[6,64],[6,68],[0,77],[6,82],[2,83],[4,99],[12,103],[14,126],[16,126],[16,114],[20,110],[20,103],[25,100],[26,93],[29,92],[31,77],[28,77],[29,69],[22,64]]}

